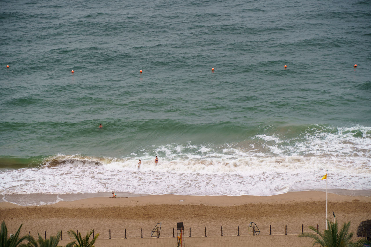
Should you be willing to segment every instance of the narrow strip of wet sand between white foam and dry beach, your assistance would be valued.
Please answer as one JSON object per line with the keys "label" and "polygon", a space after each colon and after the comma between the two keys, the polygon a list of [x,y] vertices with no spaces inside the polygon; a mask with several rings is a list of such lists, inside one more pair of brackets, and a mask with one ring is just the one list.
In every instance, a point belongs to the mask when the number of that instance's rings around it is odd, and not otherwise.
{"label": "narrow strip of wet sand between white foam and dry beach", "polygon": [[[318,191],[318,192],[325,192],[326,190],[308,190],[308,191]],[[292,192],[307,192],[307,191],[288,191],[282,194],[276,195],[268,195],[268,196],[260,196],[260,195],[239,195],[239,196],[232,196],[232,195],[225,195],[231,198],[234,197],[275,197],[278,195],[285,195],[287,193]],[[77,201],[82,199],[88,198],[98,198],[98,197],[110,197],[112,192],[98,192],[98,193],[84,193],[84,194],[1,194],[0,195],[0,204],[3,202],[9,202],[14,205],[19,205],[23,207],[27,206],[41,206],[41,205],[53,205],[58,202],[69,202],[69,201]],[[143,197],[149,196],[151,194],[134,194],[129,192],[115,192],[117,197]],[[371,197],[371,190],[340,190],[340,189],[331,189],[328,190],[329,194],[336,194],[336,195],[348,195],[348,196],[364,196],[364,197]],[[164,195],[176,195],[176,196],[189,196],[189,197],[220,197],[223,195],[178,195],[178,194],[161,194]],[[161,196],[156,195],[156,196]]]}

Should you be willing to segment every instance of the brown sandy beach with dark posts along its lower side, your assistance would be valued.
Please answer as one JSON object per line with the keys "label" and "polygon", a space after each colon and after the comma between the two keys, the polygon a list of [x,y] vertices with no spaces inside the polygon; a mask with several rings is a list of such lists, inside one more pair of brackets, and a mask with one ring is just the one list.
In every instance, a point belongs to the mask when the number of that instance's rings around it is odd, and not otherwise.
{"label": "brown sandy beach with dark posts along its lower side", "polygon": [[[177,222],[183,222],[186,237],[189,238],[191,228],[192,241],[197,239],[206,241],[204,244],[193,243],[192,246],[209,246],[210,243],[207,245],[207,241],[210,242],[211,239],[216,239],[215,243],[219,243],[222,241],[221,238],[217,238],[221,236],[221,227],[223,237],[237,236],[238,226],[239,235],[246,238],[249,235],[250,222],[256,223],[260,238],[269,236],[271,226],[272,236],[276,236],[277,242],[282,242],[278,236],[285,234],[287,225],[287,234],[291,236],[292,246],[312,246],[309,239],[303,240],[292,236],[301,233],[302,225],[304,231],[309,231],[309,225],[318,224],[320,230],[325,228],[326,194],[320,191],[288,192],[269,197],[146,195],[108,198],[109,196],[107,193],[107,197],[61,201],[52,205],[32,207],[1,202],[0,219],[6,222],[9,233],[15,232],[19,225],[23,224],[21,234],[30,232],[33,236],[37,236],[37,233],[44,236],[46,231],[49,237],[62,230],[63,240],[68,240],[67,231],[70,229],[79,230],[82,234],[94,229],[95,234],[99,233],[100,242],[97,242],[97,247],[114,246],[113,242],[108,245],[104,242],[110,237],[109,231],[111,230],[112,239],[122,240],[125,237],[125,229],[127,239],[149,241],[148,244],[156,246],[152,243],[155,240],[151,238],[151,231],[160,222],[162,223],[160,239],[173,237],[173,228],[176,236]],[[329,219],[334,220],[332,215],[334,212],[338,223],[351,221],[351,231],[356,232],[361,221],[371,219],[370,196],[371,194],[368,196],[328,194]],[[205,227],[210,240],[204,240]],[[140,238],[141,232],[143,239]],[[225,238],[223,241],[226,242]],[[274,241],[270,244],[274,244]],[[131,243],[128,246],[135,244]],[[158,246],[167,245],[162,243]],[[223,245],[220,242],[219,246],[230,245]],[[281,245],[276,243],[273,246]]]}

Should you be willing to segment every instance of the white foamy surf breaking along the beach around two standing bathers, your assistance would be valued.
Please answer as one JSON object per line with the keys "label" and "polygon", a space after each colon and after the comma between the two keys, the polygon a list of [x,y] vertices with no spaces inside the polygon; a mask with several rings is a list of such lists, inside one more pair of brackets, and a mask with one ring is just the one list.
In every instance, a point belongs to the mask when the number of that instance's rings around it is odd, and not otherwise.
{"label": "white foamy surf breaking along the beach around two standing bathers", "polygon": [[371,190],[371,128],[361,131],[362,138],[351,128],[312,132],[294,144],[278,135],[218,147],[168,144],[154,149],[158,164],[145,151],[121,158],[58,154],[41,167],[1,171],[0,194],[273,195],[320,190],[326,169],[329,188]]}

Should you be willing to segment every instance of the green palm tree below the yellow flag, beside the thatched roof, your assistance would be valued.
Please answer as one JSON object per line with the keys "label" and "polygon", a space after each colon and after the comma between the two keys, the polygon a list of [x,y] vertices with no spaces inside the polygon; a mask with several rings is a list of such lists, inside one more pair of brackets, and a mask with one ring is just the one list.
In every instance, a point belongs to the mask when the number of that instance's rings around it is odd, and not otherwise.
{"label": "green palm tree below the yellow flag, beside the thatched roof", "polygon": [[353,233],[349,233],[350,222],[344,223],[343,227],[338,230],[338,223],[332,223],[327,220],[328,230],[324,230],[323,233],[318,231],[315,227],[308,227],[315,231],[314,233],[302,233],[299,237],[313,238],[315,244],[323,247],[357,247],[363,246],[364,244],[370,244],[371,242],[365,239],[358,240],[357,242],[352,241]]}

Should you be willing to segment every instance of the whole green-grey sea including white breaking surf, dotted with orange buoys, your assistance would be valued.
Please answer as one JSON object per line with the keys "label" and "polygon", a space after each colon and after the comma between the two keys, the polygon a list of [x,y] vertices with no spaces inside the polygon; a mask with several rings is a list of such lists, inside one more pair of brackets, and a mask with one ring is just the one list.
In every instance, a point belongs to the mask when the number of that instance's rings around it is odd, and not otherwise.
{"label": "whole green-grey sea including white breaking surf, dotted with orange buoys", "polygon": [[326,170],[370,191],[370,20],[365,0],[0,1],[0,200],[267,196]]}

